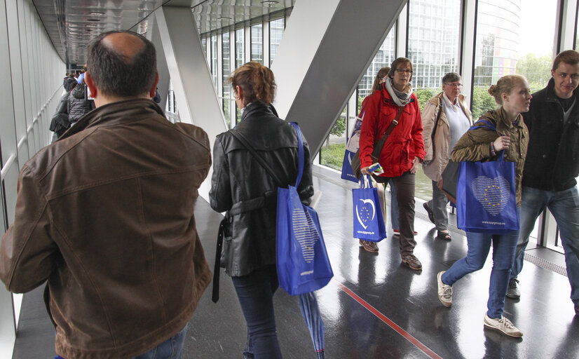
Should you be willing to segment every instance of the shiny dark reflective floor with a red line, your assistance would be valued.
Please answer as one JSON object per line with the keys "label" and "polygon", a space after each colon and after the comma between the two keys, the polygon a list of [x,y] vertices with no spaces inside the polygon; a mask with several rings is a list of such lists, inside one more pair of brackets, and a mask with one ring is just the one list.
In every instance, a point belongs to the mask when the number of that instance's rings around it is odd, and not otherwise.
{"label": "shiny dark reflective floor with a red line", "polygon": [[[322,191],[318,213],[335,274],[317,293],[327,358],[579,358],[579,317],[574,316],[566,276],[525,262],[519,276],[522,297],[505,304],[505,316],[524,337],[484,330],[490,257],[481,271],[454,285],[448,309],[438,301],[436,274],[466,254],[459,231],[451,229],[451,242],[433,239],[436,231],[417,201],[415,255],[423,271],[400,264],[389,227],[379,253],[365,252],[352,238],[352,182],[326,170],[315,172],[315,187]],[[196,222],[211,267],[219,221],[220,215],[200,199]],[[562,255],[544,248],[529,254],[564,265]],[[183,358],[242,358],[245,320],[231,279],[222,274],[217,304],[210,292],[208,288],[191,318]],[[278,290],[275,316],[284,358],[315,358],[297,298]],[[54,337],[41,290],[25,294],[20,318],[13,358],[52,358]]]}

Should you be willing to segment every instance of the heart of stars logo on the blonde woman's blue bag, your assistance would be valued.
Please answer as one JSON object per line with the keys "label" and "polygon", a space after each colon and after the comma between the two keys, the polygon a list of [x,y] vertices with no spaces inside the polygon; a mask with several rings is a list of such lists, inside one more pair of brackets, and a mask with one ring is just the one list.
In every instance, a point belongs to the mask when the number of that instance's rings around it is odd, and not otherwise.
{"label": "heart of stars logo on the blonde woman's blue bag", "polygon": [[470,182],[472,192],[489,215],[496,216],[503,212],[510,198],[510,184],[503,176],[489,178],[476,177]]}

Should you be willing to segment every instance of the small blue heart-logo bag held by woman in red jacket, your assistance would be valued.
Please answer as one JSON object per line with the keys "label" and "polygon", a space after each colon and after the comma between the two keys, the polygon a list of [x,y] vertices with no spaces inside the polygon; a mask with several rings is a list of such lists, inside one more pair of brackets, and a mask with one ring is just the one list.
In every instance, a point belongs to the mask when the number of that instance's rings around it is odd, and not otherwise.
{"label": "small blue heart-logo bag held by woman in red jacket", "polygon": [[386,225],[380,208],[378,189],[368,175],[360,179],[360,188],[352,189],[354,238],[379,242],[386,238]]}

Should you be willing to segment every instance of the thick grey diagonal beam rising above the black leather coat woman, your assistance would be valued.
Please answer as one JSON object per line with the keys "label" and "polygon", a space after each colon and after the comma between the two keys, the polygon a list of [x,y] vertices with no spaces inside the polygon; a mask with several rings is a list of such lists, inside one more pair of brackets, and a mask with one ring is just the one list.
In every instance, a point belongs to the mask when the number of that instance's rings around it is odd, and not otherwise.
{"label": "thick grey diagonal beam rising above the black leather coat woman", "polygon": [[271,69],[275,107],[315,156],[407,0],[297,1]]}

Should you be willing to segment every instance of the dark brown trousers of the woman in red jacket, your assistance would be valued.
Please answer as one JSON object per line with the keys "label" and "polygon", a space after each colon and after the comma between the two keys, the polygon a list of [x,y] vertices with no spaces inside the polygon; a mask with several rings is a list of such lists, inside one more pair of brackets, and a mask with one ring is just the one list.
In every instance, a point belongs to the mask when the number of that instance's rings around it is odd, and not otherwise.
{"label": "dark brown trousers of the woman in red jacket", "polygon": [[[416,175],[404,172],[400,177],[390,177],[379,179],[382,182],[394,184],[396,191],[396,202],[398,205],[398,224],[400,226],[400,255],[411,255],[414,253],[416,241],[414,240],[414,181]],[[393,208],[394,206],[391,205]],[[393,229],[395,229],[393,224]]]}

